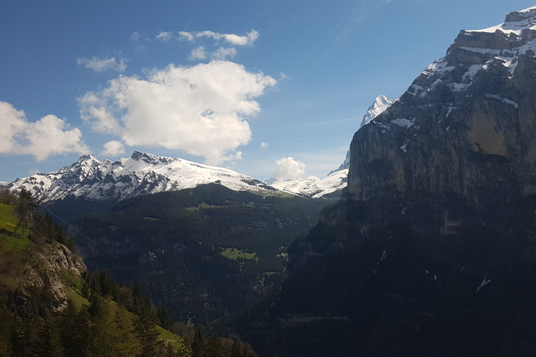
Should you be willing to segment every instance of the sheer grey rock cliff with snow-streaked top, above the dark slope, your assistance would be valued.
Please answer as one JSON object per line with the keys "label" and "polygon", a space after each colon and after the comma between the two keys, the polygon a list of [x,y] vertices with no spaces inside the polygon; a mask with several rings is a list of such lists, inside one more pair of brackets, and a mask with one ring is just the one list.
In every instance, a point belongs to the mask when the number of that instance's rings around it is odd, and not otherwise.
{"label": "sheer grey rock cliff with snow-streaked top, above the dark slope", "polygon": [[536,7],[461,31],[385,112],[355,133],[355,199],[453,192],[479,202],[536,193]]}

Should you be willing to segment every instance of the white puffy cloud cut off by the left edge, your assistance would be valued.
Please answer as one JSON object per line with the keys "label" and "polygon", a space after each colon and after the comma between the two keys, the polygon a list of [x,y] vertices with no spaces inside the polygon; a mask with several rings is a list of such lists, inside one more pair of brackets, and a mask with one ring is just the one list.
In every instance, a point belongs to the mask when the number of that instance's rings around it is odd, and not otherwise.
{"label": "white puffy cloud cut off by the left edge", "polygon": [[78,128],[69,129],[63,119],[47,115],[29,122],[22,110],[0,101],[0,153],[29,154],[36,160],[64,153],[88,153]]}

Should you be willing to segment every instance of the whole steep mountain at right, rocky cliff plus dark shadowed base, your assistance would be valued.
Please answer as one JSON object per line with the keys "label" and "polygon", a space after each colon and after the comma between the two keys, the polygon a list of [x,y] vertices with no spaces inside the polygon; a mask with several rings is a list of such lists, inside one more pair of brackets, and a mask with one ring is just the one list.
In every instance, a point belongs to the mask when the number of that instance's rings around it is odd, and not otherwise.
{"label": "whole steep mountain at right, rocky cliff plus dark shadowed base", "polygon": [[355,133],[348,191],[249,326],[263,356],[536,351],[535,23],[461,31]]}

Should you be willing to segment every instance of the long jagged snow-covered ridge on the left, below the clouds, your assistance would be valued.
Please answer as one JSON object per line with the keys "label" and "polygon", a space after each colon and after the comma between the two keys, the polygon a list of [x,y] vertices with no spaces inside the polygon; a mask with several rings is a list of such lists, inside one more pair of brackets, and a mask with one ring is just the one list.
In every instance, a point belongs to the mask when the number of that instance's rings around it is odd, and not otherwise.
{"label": "long jagged snow-covered ridge on the left, below the clouds", "polygon": [[220,183],[236,191],[273,190],[251,176],[230,169],[140,151],[116,162],[83,155],[73,165],[17,179],[9,188],[25,188],[33,197],[47,203],[66,197],[119,201],[137,195],[194,188],[204,183]]}

